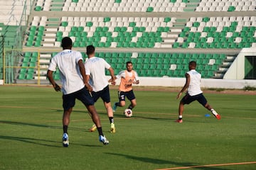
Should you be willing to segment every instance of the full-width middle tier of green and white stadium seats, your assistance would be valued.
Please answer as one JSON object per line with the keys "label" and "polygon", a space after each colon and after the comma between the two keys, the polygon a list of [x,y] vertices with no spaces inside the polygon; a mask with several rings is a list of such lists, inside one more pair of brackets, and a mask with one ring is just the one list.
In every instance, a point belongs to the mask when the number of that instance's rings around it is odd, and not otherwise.
{"label": "full-width middle tier of green and white stadium seats", "polygon": [[[67,17],[34,16],[26,46],[60,47],[70,36],[74,47],[254,47],[255,16],[191,17],[182,28],[170,17]],[[49,21],[55,26],[48,27]],[[171,38],[171,39],[170,39]],[[171,42],[171,44],[170,44]]]}

